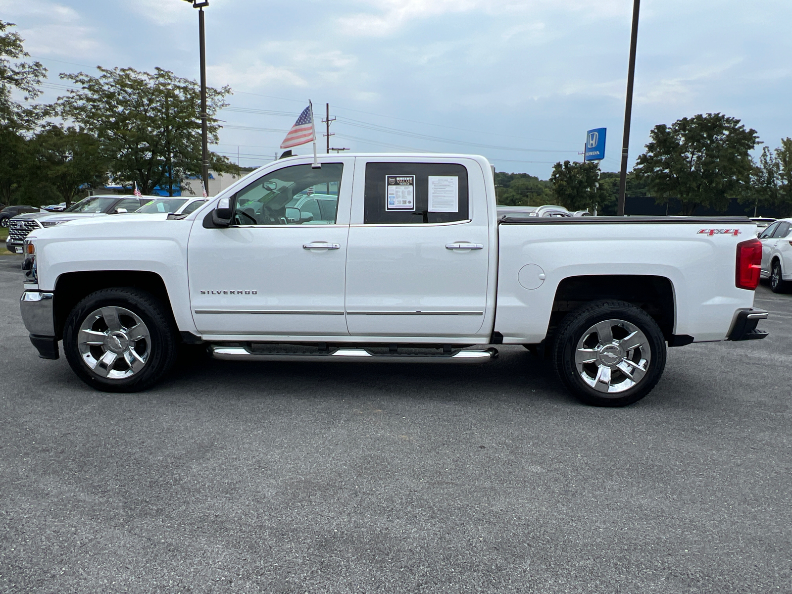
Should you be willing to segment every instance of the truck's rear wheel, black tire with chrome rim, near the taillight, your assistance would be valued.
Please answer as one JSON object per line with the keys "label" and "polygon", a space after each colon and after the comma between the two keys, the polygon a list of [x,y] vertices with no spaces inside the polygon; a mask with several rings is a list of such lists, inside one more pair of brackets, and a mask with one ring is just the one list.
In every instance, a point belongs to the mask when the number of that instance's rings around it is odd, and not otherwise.
{"label": "truck's rear wheel, black tire with chrome rim, near the taillight", "polygon": [[[603,342],[594,329],[600,323],[606,335],[610,328],[611,342]],[[628,337],[630,340],[625,341]],[[624,351],[636,342],[634,349]],[[578,348],[580,364],[576,360]],[[657,385],[665,367],[665,341],[657,322],[644,310],[624,301],[596,301],[573,311],[558,326],[551,349],[555,371],[566,389],[592,406],[627,406],[638,402]],[[592,358],[596,360],[588,361]],[[602,367],[608,371],[600,371]],[[622,371],[622,367],[628,371]],[[592,379],[600,389],[592,387]],[[604,391],[611,387],[615,391]]]}

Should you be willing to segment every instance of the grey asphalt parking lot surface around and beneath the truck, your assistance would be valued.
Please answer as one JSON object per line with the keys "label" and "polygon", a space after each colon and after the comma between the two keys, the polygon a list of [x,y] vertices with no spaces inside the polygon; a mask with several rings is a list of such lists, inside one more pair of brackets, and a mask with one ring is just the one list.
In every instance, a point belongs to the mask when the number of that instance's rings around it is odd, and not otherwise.
{"label": "grey asphalt parking lot surface around and beneath the truck", "polygon": [[792,295],[625,409],[543,361],[41,360],[0,257],[0,592],[790,592]]}

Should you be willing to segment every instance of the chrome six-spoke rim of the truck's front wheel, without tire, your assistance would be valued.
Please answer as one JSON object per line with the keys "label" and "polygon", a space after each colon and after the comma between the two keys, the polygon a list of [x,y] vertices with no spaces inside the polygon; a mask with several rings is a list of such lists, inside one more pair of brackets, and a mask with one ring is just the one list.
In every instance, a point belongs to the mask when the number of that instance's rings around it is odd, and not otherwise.
{"label": "chrome six-spoke rim of the truck's front wheel, without tire", "polygon": [[149,329],[124,307],[102,307],[86,316],[77,343],[86,365],[109,379],[135,375],[151,353]]}

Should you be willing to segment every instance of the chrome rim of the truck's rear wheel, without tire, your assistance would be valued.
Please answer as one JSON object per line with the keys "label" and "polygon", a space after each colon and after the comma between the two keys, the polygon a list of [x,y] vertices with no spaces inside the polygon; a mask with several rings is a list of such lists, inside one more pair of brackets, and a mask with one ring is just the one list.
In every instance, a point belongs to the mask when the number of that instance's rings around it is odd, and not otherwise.
{"label": "chrome rim of the truck's rear wheel, without tire", "polygon": [[651,360],[645,334],[624,320],[597,322],[583,333],[575,350],[581,379],[607,394],[620,394],[640,382]]}

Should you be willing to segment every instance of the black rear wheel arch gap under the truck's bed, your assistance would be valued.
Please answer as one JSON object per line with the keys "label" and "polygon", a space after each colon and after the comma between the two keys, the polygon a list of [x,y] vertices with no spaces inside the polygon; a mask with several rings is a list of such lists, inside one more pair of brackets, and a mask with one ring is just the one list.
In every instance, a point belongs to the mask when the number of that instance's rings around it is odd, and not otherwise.
{"label": "black rear wheel arch gap under the truck's bed", "polygon": [[618,299],[640,307],[660,326],[663,337],[674,341],[676,293],[672,280],[654,275],[581,275],[568,276],[556,287],[550,314],[550,336],[570,312],[592,301]]}

